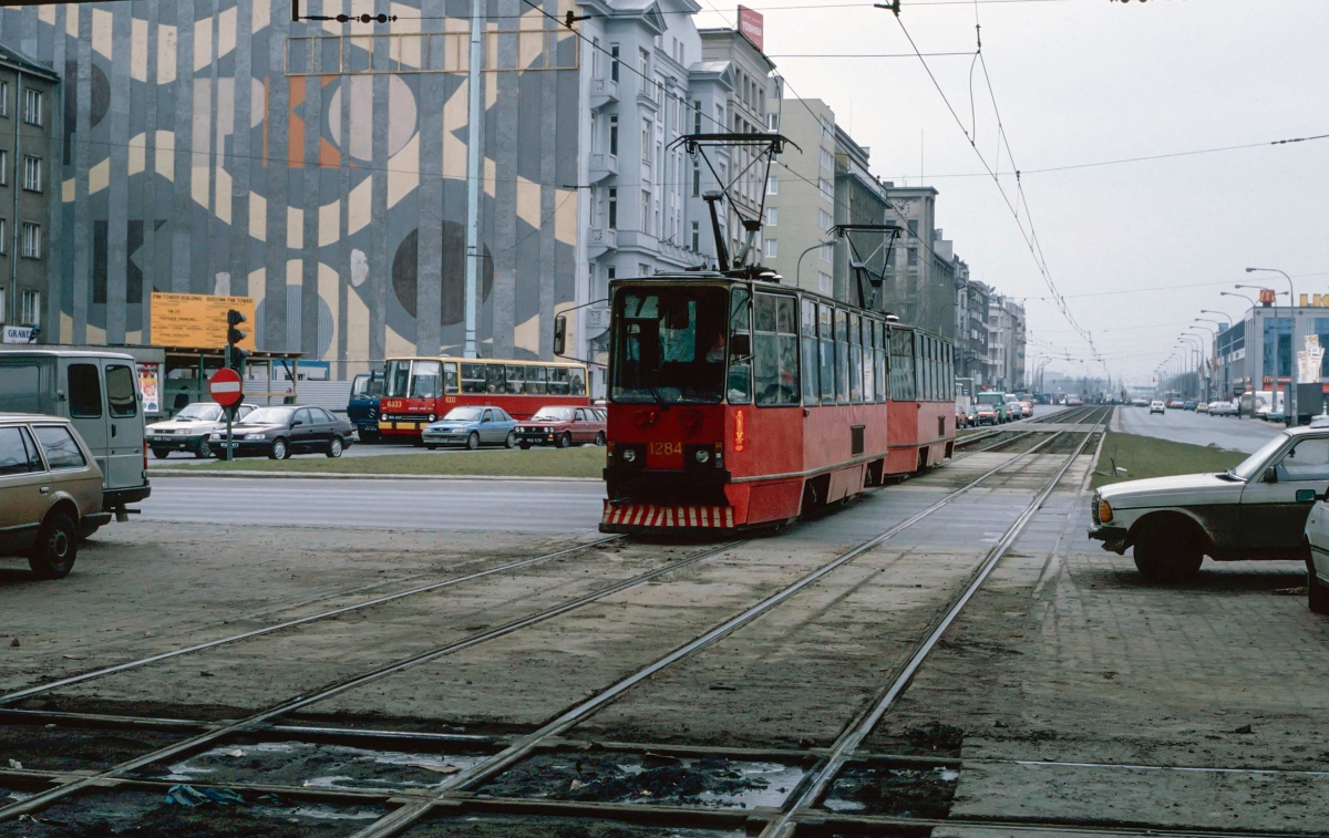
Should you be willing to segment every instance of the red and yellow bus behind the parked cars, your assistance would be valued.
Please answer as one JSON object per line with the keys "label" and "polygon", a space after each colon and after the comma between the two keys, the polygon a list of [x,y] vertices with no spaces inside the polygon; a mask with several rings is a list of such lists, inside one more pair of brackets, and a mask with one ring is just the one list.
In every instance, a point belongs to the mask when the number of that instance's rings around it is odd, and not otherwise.
{"label": "red and yellow bus behind the parked cars", "polygon": [[420,440],[425,425],[462,405],[498,406],[525,420],[545,405],[587,404],[585,364],[395,357],[384,367],[379,434]]}

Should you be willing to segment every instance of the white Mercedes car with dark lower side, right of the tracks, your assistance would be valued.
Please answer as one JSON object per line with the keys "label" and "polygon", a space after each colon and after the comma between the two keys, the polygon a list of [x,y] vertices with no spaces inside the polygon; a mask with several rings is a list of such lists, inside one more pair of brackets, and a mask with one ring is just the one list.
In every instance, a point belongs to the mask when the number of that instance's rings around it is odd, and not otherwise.
{"label": "white Mercedes car with dark lower side, right of the tracks", "polygon": [[[1146,578],[1193,576],[1204,556],[1219,562],[1308,559],[1310,507],[1329,491],[1329,428],[1293,428],[1273,437],[1241,465],[1219,474],[1127,481],[1094,493],[1088,537],[1126,554]],[[1324,507],[1324,503],[1320,505]],[[1329,551],[1329,510],[1314,526]],[[1317,554],[1329,580],[1329,552]]]}

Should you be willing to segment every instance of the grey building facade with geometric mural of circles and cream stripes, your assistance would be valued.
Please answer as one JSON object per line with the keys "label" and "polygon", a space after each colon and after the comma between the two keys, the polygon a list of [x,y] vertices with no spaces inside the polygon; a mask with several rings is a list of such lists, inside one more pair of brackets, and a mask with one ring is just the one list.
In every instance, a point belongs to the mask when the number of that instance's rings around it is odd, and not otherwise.
{"label": "grey building facade with geometric mural of circles and cream stripes", "polygon": [[[338,377],[460,353],[469,1],[302,12],[397,20],[291,23],[286,0],[0,12],[0,40],[64,76],[52,339],[152,343],[157,290],[253,296],[259,348]],[[521,0],[488,15],[481,355],[548,357],[577,276],[578,42]]]}

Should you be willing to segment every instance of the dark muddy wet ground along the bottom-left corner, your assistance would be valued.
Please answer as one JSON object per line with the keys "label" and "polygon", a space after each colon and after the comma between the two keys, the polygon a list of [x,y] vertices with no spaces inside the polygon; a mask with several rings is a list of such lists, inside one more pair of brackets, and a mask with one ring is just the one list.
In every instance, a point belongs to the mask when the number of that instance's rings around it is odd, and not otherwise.
{"label": "dark muddy wet ground along the bottom-left corner", "polygon": [[387,811],[379,806],[287,801],[274,794],[243,796],[243,802],[234,805],[182,806],[166,802],[165,794],[122,792],[76,797],[36,815],[0,823],[0,838],[343,838]]}

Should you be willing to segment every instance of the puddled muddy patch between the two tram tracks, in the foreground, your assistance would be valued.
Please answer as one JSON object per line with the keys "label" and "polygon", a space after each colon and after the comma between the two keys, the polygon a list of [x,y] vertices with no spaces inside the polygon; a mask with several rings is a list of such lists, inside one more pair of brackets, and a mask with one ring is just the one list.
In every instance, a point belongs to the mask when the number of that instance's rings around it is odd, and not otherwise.
{"label": "puddled muddy patch between the two tram tracks, in the foreground", "polygon": [[428,789],[485,758],[485,754],[368,750],[322,742],[222,745],[141,776],[174,782],[262,784],[384,792]]}

